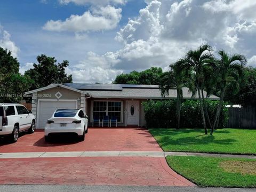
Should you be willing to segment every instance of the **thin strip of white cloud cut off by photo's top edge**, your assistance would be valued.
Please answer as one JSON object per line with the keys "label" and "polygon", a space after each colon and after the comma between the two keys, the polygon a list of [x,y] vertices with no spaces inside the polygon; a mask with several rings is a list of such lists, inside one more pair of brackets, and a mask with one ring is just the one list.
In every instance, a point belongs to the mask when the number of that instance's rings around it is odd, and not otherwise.
{"label": "thin strip of white cloud cut off by photo's top edge", "polygon": [[69,3],[75,3],[77,5],[109,5],[109,4],[125,4],[127,0],[59,0],[60,4],[67,5]]}

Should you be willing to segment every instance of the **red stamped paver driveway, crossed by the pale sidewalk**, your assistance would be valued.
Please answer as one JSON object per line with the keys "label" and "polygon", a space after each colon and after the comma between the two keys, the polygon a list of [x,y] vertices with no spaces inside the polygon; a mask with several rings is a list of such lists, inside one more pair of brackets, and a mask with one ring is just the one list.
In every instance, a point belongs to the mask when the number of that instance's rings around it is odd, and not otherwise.
{"label": "red stamped paver driveway, crossed by the pale sidewalk", "polygon": [[[162,151],[143,129],[90,129],[83,142],[46,143],[43,132],[17,143],[0,141],[0,154],[40,151]],[[0,158],[0,184],[195,186],[164,157]]]}

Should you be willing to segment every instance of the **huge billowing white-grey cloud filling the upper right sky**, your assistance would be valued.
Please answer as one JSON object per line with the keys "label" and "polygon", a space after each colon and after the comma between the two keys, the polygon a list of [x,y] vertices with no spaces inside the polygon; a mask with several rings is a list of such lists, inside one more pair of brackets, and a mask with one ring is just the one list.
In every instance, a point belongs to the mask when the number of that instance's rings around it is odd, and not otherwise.
{"label": "huge billowing white-grey cloud filling the upper right sky", "polygon": [[[145,9],[137,18],[129,19],[121,28],[116,40],[123,47],[106,54],[90,53],[87,59],[90,66],[113,71],[129,72],[159,66],[165,70],[170,63],[182,57],[189,49],[202,43],[210,43],[216,50],[225,49],[229,53],[255,54],[256,20],[249,14],[251,5],[245,1],[201,0],[147,0]],[[223,5],[223,6],[222,6]],[[238,16],[237,16],[238,15]],[[93,58],[93,59],[92,59]],[[254,63],[252,57],[249,63]],[[76,65],[85,69],[88,60]],[[253,64],[252,64],[253,65]],[[109,82],[109,77],[107,78]]]}

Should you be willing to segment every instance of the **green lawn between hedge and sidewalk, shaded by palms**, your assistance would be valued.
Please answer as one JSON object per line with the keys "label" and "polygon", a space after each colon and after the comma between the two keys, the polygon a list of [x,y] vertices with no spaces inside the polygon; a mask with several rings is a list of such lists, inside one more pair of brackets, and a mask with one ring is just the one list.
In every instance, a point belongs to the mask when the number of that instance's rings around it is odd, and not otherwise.
{"label": "green lawn between hedge and sidewalk, shaded by palms", "polygon": [[164,151],[256,154],[256,130],[219,129],[205,135],[203,129],[150,129]]}

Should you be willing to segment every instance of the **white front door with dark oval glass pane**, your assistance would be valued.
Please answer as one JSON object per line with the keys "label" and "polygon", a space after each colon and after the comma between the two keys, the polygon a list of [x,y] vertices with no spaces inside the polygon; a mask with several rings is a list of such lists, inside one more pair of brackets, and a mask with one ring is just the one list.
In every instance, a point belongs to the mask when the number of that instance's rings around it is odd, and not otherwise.
{"label": "white front door with dark oval glass pane", "polygon": [[140,101],[126,101],[127,125],[139,125]]}

